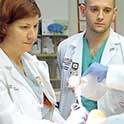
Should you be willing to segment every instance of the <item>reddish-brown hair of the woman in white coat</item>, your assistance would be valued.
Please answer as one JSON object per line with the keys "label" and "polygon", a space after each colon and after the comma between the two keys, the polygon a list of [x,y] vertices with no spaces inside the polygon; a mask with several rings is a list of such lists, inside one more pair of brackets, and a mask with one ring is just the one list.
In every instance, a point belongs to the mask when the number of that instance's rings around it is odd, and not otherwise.
{"label": "reddish-brown hair of the woman in white coat", "polygon": [[22,18],[41,16],[34,0],[0,0],[0,43],[7,34],[7,25]]}

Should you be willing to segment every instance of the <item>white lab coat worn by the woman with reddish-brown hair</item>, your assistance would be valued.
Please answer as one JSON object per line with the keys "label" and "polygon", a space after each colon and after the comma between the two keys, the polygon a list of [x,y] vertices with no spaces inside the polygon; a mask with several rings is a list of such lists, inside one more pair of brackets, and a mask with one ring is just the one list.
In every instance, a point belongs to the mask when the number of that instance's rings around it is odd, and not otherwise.
{"label": "white lab coat worn by the woman with reddish-brown hair", "polygon": [[[42,89],[55,105],[55,93],[50,84],[46,62],[38,61],[35,56],[28,53],[24,53],[22,59],[34,78],[42,77]],[[50,121],[42,120],[42,107],[43,104],[39,103],[32,88],[0,49],[0,124],[52,124]],[[51,113],[58,114],[55,109],[51,110]]]}

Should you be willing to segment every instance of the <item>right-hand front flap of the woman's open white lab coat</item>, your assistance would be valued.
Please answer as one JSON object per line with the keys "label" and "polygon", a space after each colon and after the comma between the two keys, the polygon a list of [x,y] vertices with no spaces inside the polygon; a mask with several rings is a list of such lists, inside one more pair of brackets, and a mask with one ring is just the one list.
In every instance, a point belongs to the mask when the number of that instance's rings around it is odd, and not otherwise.
{"label": "right-hand front flap of the woman's open white lab coat", "polygon": [[[27,58],[28,61],[27,61]],[[48,72],[48,66],[45,61],[38,61],[36,57],[28,57],[28,55],[24,56],[24,61],[26,63],[26,66],[30,69],[30,72],[34,76],[34,78],[37,80],[38,78],[41,79],[41,82],[39,84],[41,85],[41,88],[47,98],[53,103],[56,104],[56,98],[55,93],[52,88],[52,85],[50,83],[49,79],[49,72]]]}

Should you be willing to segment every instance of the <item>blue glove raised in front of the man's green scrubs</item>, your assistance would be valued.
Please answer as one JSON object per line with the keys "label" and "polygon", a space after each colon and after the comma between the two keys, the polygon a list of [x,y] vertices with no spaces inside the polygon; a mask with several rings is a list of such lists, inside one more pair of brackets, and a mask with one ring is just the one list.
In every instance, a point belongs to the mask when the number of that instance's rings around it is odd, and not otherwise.
{"label": "blue glove raised in front of the man's green scrubs", "polygon": [[84,72],[84,76],[87,74],[93,74],[97,76],[97,81],[101,82],[106,78],[108,67],[102,64],[94,62],[91,66]]}

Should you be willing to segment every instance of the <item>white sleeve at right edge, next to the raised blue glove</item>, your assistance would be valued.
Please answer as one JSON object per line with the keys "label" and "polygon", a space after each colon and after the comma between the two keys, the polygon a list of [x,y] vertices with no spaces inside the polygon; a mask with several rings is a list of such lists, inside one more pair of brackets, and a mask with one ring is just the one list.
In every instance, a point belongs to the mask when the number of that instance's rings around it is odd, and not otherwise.
{"label": "white sleeve at right edge, next to the raised blue glove", "polygon": [[106,86],[124,91],[124,65],[110,65],[108,67]]}

